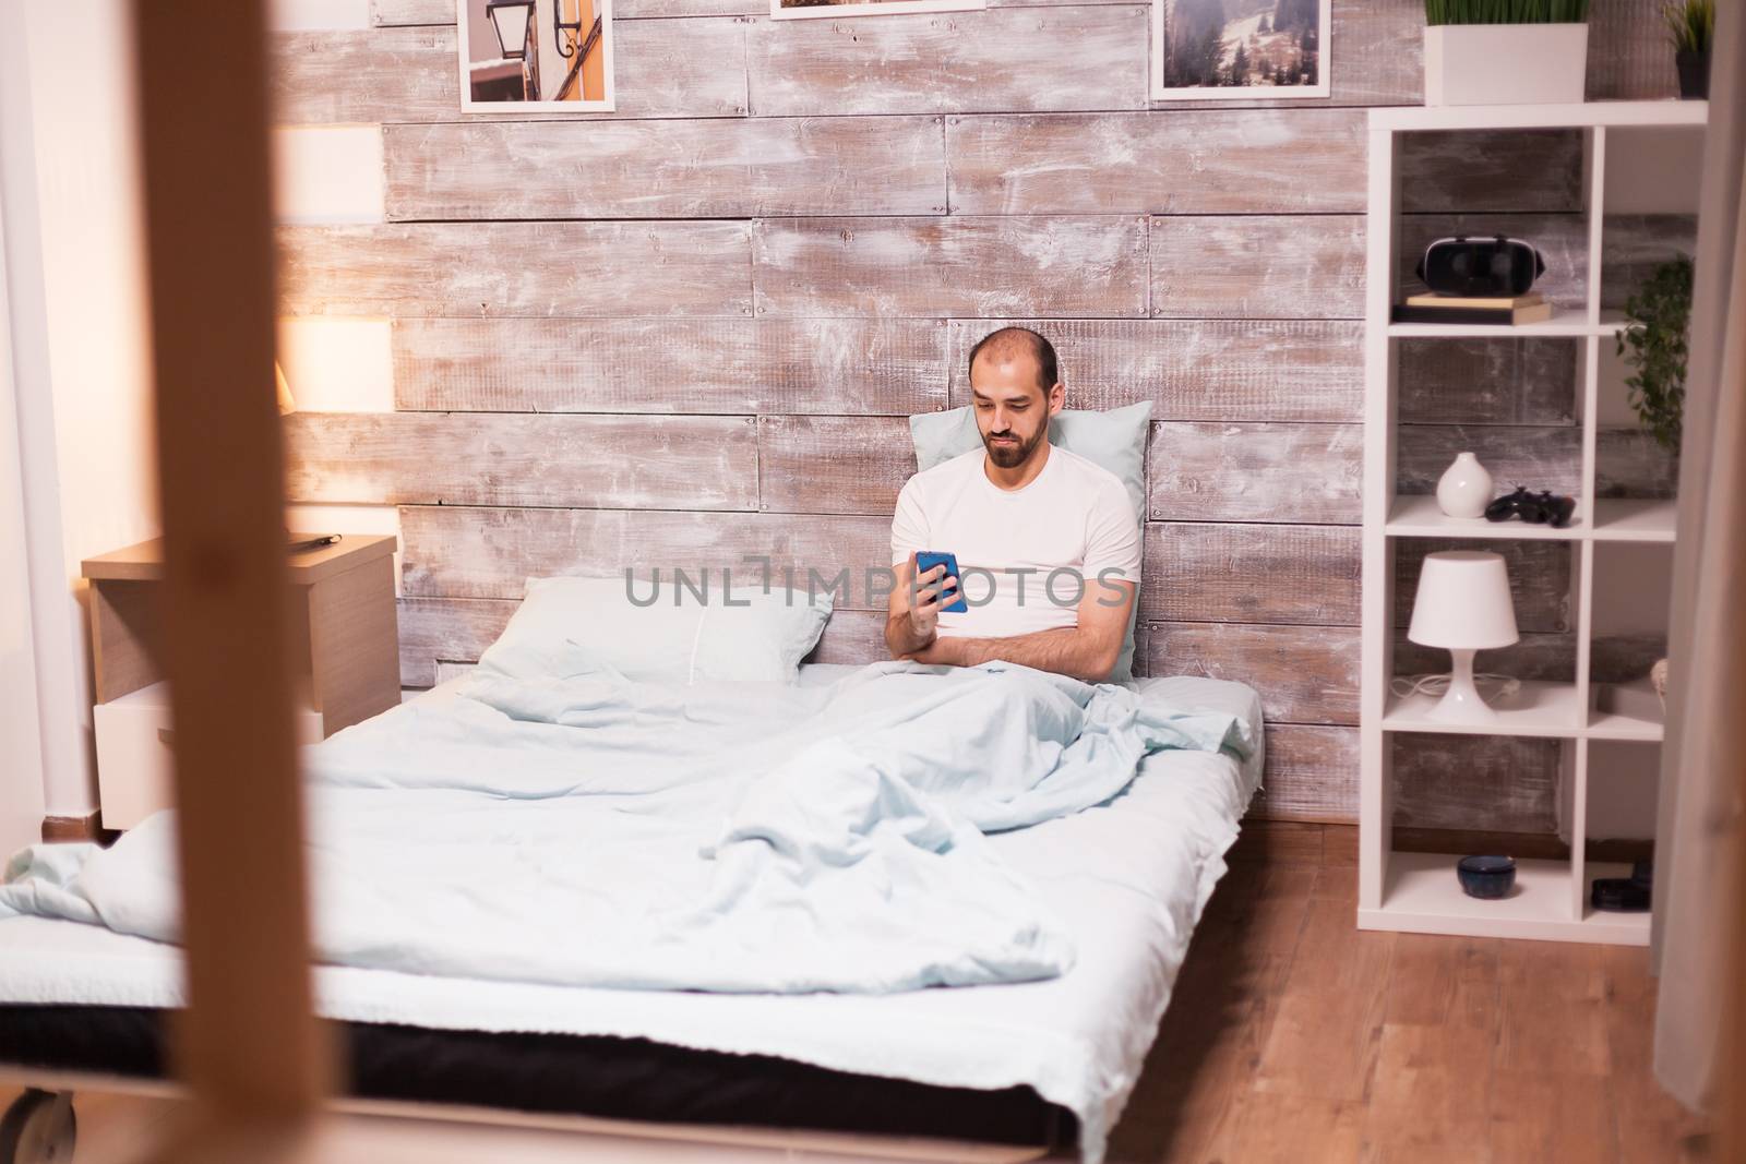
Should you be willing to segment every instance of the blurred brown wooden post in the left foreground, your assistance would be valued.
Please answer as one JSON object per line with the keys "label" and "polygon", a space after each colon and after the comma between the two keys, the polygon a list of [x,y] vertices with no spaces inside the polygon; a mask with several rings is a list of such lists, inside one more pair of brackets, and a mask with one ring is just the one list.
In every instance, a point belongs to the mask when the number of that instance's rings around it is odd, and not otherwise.
{"label": "blurred brown wooden post in the left foreground", "polygon": [[175,1061],[213,1115],[295,1120],[330,1051],[292,728],[264,3],[133,10],[190,1007]]}

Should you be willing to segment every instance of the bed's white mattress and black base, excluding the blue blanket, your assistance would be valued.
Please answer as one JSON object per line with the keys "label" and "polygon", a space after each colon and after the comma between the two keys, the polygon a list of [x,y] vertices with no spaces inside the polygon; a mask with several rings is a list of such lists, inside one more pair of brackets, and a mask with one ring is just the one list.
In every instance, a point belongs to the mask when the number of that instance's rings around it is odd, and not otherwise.
{"label": "bed's white mattress and black base, excluding the blue blanket", "polygon": [[[805,665],[800,684],[828,688],[863,670]],[[417,702],[440,709],[463,682]],[[1254,745],[1152,752],[1114,796],[988,836],[1070,928],[1069,972],[887,993],[714,993],[321,965],[318,1005],[344,1023],[353,1092],[988,1143],[1069,1140],[1084,1159],[1102,1159],[1262,766],[1261,707],[1247,686],[1198,677],[1124,686],[1142,702],[1226,714]],[[47,916],[0,918],[0,1061],[161,1075],[164,1017],[180,1003],[175,946]]]}

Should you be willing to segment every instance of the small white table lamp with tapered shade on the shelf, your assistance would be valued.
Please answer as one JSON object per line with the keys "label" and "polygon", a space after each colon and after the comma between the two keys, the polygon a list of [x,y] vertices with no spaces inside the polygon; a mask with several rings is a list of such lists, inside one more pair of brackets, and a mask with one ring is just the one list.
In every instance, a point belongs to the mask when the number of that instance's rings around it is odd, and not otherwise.
{"label": "small white table lamp with tapered shade on the shelf", "polygon": [[1507,647],[1519,637],[1502,553],[1449,550],[1425,555],[1407,639],[1426,647],[1447,647],[1454,658],[1449,691],[1430,710],[1432,719],[1460,724],[1496,719],[1498,714],[1474,686],[1474,651]]}

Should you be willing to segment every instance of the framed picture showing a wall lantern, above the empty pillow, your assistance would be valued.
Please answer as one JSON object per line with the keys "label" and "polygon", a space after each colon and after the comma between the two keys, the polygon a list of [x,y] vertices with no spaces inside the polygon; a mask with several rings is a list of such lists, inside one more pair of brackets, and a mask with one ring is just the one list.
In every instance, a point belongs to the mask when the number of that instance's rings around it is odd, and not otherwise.
{"label": "framed picture showing a wall lantern, above the empty pillow", "polygon": [[613,108],[613,0],[456,0],[461,108]]}

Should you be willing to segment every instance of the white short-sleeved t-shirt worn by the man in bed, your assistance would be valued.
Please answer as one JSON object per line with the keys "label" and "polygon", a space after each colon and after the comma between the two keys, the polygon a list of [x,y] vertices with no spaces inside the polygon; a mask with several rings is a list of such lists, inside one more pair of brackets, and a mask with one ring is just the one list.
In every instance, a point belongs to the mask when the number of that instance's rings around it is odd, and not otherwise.
{"label": "white short-sleeved t-shirt worn by the man in bed", "polygon": [[1006,639],[1077,627],[1081,593],[1119,597],[1098,578],[1140,585],[1140,522],[1121,478],[1051,445],[1035,480],[1006,490],[988,480],[986,455],[978,447],[936,464],[897,494],[890,560],[950,551],[964,571],[959,583],[971,609],[941,611],[941,635]]}

